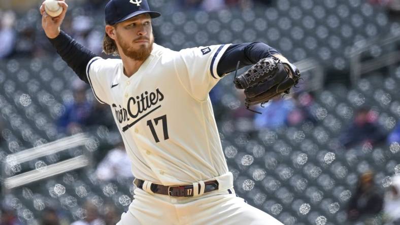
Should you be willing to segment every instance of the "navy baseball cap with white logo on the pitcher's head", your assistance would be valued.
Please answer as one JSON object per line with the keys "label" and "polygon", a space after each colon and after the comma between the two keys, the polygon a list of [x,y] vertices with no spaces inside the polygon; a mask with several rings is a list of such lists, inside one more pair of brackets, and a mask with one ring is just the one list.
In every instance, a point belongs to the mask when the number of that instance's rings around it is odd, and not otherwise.
{"label": "navy baseball cap with white logo on the pitcher's head", "polygon": [[134,16],[148,13],[151,18],[161,16],[150,11],[147,0],[110,0],[106,5],[106,24],[114,25]]}

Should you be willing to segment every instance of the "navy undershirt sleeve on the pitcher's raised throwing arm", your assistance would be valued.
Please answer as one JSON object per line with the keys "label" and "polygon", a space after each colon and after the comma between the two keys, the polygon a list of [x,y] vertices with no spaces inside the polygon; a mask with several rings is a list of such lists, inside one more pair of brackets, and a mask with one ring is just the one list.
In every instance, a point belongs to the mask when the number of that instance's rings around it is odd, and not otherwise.
{"label": "navy undershirt sleeve on the pitcher's raised throwing arm", "polygon": [[89,84],[86,77],[86,66],[90,59],[97,55],[77,43],[70,35],[62,30],[57,37],[49,39],[49,41],[57,50],[62,60],[74,70],[82,81]]}

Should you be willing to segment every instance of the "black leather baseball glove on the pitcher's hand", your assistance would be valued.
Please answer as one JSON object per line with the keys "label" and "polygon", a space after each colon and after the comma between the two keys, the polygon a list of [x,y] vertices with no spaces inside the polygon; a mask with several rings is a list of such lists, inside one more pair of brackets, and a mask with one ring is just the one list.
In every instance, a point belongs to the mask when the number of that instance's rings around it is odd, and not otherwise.
{"label": "black leather baseball glove on the pitcher's hand", "polygon": [[263,104],[271,98],[288,94],[298,83],[300,72],[291,63],[281,62],[276,57],[261,59],[245,73],[235,78],[238,89],[245,89],[245,106]]}

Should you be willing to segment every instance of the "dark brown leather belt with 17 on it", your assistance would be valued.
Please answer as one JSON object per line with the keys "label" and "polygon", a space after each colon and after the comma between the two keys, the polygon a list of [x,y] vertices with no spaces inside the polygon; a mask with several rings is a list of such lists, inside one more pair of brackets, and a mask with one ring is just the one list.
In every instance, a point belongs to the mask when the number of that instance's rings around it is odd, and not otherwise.
{"label": "dark brown leather belt with 17 on it", "polygon": [[[143,190],[143,183],[145,181],[141,179],[135,179],[134,184]],[[211,180],[204,182],[205,189],[204,193],[212,192],[218,190],[218,181]],[[161,195],[169,195],[172,197],[190,197],[193,196],[193,185],[184,185],[184,186],[164,186],[161,184],[152,183],[150,186],[150,190],[156,194]],[[198,190],[200,191],[200,184],[198,184]],[[199,193],[198,193],[199,194]]]}

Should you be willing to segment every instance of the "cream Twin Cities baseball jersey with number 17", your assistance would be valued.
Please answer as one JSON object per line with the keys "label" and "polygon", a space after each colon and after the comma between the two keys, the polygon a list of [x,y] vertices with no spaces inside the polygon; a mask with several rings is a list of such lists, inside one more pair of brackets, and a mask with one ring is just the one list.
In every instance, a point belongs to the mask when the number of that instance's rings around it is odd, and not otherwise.
{"label": "cream Twin Cities baseball jersey with number 17", "polygon": [[182,185],[228,173],[209,98],[229,45],[172,51],[153,44],[129,78],[122,60],[87,65],[96,99],[110,105],[135,177]]}

